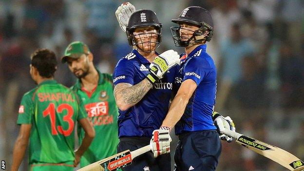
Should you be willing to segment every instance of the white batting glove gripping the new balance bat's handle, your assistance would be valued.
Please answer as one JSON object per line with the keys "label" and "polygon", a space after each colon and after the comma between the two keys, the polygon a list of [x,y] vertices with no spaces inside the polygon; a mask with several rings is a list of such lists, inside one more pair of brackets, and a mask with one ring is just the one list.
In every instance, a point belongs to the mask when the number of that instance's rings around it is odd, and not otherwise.
{"label": "white batting glove gripping the new balance bat's handle", "polygon": [[221,114],[217,112],[213,112],[212,119],[214,121],[214,125],[217,128],[217,132],[220,134],[221,140],[226,140],[227,142],[232,142],[232,137],[225,135],[225,128],[228,130],[231,130],[235,132],[235,126],[233,123],[233,120],[230,118],[230,116],[222,116]]}

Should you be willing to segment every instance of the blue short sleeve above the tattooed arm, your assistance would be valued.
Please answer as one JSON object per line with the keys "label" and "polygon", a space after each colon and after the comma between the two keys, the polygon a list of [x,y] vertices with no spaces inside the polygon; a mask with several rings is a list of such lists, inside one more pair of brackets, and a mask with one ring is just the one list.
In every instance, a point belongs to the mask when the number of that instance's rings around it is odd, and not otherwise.
{"label": "blue short sleeve above the tattooed arm", "polygon": [[118,61],[113,73],[113,83],[114,85],[118,83],[134,84],[134,65],[132,61],[126,58]]}

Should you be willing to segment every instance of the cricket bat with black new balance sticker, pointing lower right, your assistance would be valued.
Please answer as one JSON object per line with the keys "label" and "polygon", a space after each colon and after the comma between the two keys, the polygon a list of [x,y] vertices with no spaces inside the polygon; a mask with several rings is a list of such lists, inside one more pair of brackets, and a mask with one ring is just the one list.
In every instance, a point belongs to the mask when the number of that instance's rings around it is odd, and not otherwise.
{"label": "cricket bat with black new balance sticker, pointing lower right", "polygon": [[225,134],[236,139],[236,143],[247,147],[253,152],[257,152],[274,162],[284,166],[290,171],[304,171],[304,163],[298,157],[293,154],[286,152],[283,149],[275,147],[273,145],[267,144],[265,142],[259,141],[257,139],[248,137],[241,133],[232,132],[225,129]]}

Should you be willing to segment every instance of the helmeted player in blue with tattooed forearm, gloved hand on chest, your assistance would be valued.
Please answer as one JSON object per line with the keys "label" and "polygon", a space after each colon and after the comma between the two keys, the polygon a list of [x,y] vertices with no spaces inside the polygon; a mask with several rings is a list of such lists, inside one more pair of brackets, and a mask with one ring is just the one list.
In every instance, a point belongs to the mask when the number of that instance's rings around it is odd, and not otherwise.
{"label": "helmeted player in blue with tattooed forearm, gloved hand on chest", "polygon": [[[127,5],[122,4],[116,11],[116,16],[120,17],[130,14],[126,17],[129,22],[125,25],[125,31],[129,44],[134,48],[118,61],[114,69],[114,96],[119,108],[118,152],[127,149],[133,151],[150,144],[152,132],[160,128],[169,110],[175,77],[179,71],[176,64],[180,61],[179,55],[173,50],[160,55],[155,52],[162,37],[162,25],[155,13],[151,10],[132,12],[130,8],[126,12]],[[118,21],[121,23],[122,20]],[[123,170],[171,171],[171,139],[158,143],[162,132],[169,134],[169,130],[160,130],[159,134],[154,133],[155,141],[151,143],[151,147],[157,146],[158,150],[152,148],[153,153],[136,157],[132,165]],[[164,155],[157,157],[160,154]]]}

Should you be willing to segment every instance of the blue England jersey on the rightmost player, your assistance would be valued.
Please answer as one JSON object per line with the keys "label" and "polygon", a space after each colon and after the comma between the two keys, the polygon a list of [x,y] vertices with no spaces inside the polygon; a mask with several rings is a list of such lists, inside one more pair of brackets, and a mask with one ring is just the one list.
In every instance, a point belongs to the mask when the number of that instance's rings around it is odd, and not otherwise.
{"label": "blue England jersey on the rightmost player", "polygon": [[[197,84],[182,118],[175,125],[175,134],[216,130],[212,112],[216,94],[216,67],[206,53],[206,44],[196,47],[186,59],[181,57],[179,82],[192,79]],[[183,56],[184,54],[181,54]]]}

